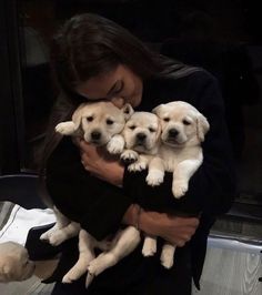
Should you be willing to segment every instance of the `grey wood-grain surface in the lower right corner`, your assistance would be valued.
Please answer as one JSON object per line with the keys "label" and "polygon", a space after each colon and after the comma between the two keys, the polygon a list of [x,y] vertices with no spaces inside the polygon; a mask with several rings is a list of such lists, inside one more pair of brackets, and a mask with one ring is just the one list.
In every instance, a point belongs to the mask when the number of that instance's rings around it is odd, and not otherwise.
{"label": "grey wood-grain surface in the lower right corner", "polygon": [[198,295],[261,295],[262,256],[248,252],[209,248]]}

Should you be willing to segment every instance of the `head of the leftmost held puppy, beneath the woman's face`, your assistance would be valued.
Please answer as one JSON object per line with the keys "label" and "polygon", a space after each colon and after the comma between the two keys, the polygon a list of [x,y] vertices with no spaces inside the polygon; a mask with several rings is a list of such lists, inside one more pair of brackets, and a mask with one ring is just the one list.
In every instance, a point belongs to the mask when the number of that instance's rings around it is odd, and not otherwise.
{"label": "head of the leftmost held puppy, beneath the woman's face", "polygon": [[130,104],[119,109],[111,102],[94,102],[80,105],[73,113],[72,121],[82,130],[87,142],[99,146],[107,144],[123,130],[125,120],[132,112]]}

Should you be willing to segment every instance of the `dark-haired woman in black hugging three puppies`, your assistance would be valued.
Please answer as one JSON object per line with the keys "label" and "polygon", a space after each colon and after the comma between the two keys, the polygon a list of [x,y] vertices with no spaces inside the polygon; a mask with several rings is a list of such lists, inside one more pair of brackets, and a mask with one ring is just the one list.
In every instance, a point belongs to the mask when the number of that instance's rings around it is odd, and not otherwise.
{"label": "dark-haired woman in black hugging three puppies", "polygon": [[[57,283],[52,294],[191,294],[192,277],[199,287],[209,230],[215,215],[230,208],[234,192],[223,102],[215,79],[202,69],[152,53],[114,22],[88,13],[66,22],[54,38],[51,61],[61,89],[43,156],[52,201],[98,240],[123,224],[160,237],[153,257],[143,257],[140,245],[95,277],[88,289],[82,277],[70,285]],[[208,118],[211,130],[203,144],[204,161],[185,196],[174,200],[169,173],[162,185],[150,187],[144,181],[147,172],[130,173],[103,149],[83,141],[77,146],[54,133],[54,125],[69,120],[79,103],[98,100],[110,100],[119,108],[129,102],[143,111],[184,100]],[[160,263],[163,240],[178,246],[169,271]],[[50,281],[61,279],[77,258],[77,241],[72,240]]]}

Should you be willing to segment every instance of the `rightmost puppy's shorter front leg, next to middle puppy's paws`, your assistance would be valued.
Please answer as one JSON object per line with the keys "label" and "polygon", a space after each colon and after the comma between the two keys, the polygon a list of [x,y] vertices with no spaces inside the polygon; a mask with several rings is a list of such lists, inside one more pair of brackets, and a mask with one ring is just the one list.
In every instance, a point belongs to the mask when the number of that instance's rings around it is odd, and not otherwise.
{"label": "rightmost puppy's shorter front leg, next to middle puppy's paws", "polygon": [[159,156],[154,156],[149,162],[149,173],[145,179],[151,186],[160,185],[164,179],[164,163]]}

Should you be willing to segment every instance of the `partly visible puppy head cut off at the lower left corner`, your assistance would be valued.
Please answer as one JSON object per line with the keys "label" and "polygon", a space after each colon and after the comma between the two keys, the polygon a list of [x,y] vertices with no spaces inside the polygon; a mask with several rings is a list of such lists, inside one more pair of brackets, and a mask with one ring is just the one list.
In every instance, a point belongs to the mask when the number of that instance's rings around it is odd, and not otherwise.
{"label": "partly visible puppy head cut off at the lower left corner", "polygon": [[36,265],[29,260],[28,251],[20,244],[0,244],[0,282],[24,281],[33,275]]}

